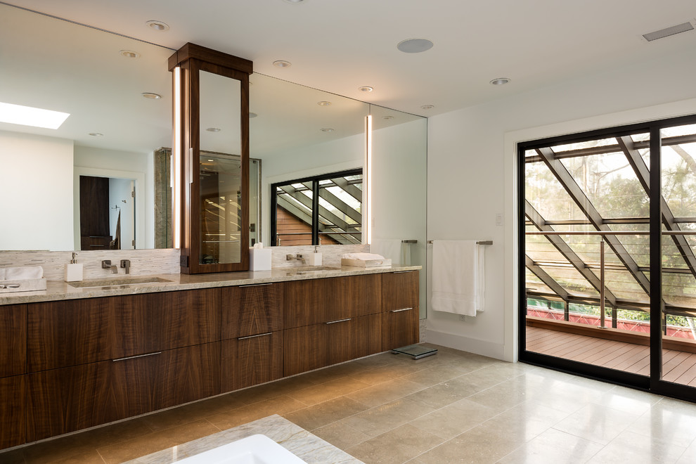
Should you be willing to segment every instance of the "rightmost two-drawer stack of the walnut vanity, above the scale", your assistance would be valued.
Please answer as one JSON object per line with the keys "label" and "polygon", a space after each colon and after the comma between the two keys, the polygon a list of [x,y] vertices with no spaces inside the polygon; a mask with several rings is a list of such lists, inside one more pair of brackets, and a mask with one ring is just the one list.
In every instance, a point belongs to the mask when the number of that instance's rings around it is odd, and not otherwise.
{"label": "rightmost two-drawer stack of the walnut vanity, above the scale", "polygon": [[418,343],[418,271],[382,274],[382,351]]}

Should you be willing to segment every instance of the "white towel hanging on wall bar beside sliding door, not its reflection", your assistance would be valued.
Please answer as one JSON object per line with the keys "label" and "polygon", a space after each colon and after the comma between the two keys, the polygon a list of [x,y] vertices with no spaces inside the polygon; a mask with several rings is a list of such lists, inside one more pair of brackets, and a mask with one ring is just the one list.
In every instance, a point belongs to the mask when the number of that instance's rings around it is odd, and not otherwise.
{"label": "white towel hanging on wall bar beside sliding door, not its reflection", "polygon": [[484,310],[484,245],[476,240],[432,243],[432,309],[465,316]]}

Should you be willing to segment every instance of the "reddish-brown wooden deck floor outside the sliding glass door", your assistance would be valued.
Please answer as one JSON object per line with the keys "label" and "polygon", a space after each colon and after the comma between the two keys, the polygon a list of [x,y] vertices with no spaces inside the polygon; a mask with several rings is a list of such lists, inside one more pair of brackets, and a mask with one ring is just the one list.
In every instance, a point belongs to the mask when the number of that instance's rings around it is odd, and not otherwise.
{"label": "reddish-brown wooden deck floor outside the sliding glass door", "polygon": [[[596,366],[650,375],[650,347],[527,326],[527,350]],[[662,378],[696,387],[696,354],[662,350]]]}

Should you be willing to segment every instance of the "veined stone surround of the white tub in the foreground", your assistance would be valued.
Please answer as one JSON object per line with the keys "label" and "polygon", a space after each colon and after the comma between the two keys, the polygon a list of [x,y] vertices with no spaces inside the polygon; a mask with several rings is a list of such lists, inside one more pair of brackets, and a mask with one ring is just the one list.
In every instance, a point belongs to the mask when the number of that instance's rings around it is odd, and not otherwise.
{"label": "veined stone surround of the white tub in the foreground", "polygon": [[276,414],[193,440],[193,442],[172,446],[142,458],[129,460],[126,464],[171,464],[253,434],[266,435],[307,464],[362,464],[361,460],[357,460]]}

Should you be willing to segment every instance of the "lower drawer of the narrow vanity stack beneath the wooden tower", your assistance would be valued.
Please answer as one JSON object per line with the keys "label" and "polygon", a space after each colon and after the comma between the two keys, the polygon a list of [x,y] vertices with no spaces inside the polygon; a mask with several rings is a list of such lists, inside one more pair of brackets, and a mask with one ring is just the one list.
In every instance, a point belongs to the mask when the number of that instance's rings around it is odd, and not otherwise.
{"label": "lower drawer of the narrow vanity stack beneath the wooden tower", "polygon": [[283,377],[283,331],[222,342],[221,392]]}

